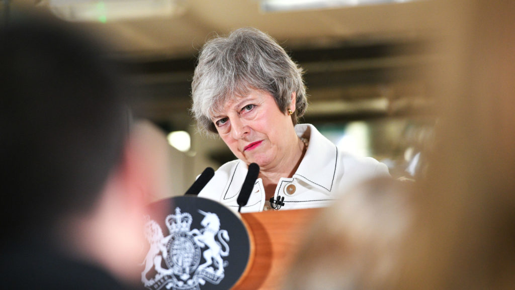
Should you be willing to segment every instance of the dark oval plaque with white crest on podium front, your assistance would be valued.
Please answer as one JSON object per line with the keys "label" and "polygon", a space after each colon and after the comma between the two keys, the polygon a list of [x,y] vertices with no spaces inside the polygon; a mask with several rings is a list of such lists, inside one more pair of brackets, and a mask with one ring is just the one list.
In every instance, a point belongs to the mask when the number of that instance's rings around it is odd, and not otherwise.
{"label": "dark oval plaque with white crest on podium front", "polygon": [[146,217],[148,245],[141,273],[145,288],[229,289],[243,275],[250,258],[249,234],[231,210],[191,196],[149,207],[150,212],[164,210],[168,215]]}

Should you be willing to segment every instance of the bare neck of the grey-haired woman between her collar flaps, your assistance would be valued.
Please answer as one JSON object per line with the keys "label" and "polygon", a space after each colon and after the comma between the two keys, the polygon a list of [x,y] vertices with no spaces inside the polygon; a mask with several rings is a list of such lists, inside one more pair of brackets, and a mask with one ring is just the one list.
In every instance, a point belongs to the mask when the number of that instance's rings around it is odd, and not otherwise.
{"label": "bare neck of the grey-haired woman between her collar flaps", "polygon": [[261,170],[259,174],[259,177],[263,180],[265,200],[268,200],[274,195],[277,184],[281,178],[290,178],[297,172],[297,168],[299,168],[300,162],[304,158],[307,145],[297,136],[295,138],[296,141],[292,146],[292,150],[290,150],[290,156],[283,159],[283,162],[281,162],[279,166]]}

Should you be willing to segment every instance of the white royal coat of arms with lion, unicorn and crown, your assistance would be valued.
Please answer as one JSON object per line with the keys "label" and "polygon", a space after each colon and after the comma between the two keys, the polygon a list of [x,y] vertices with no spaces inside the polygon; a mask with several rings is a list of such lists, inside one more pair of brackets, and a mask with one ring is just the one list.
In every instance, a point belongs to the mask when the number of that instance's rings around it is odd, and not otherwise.
{"label": "white royal coat of arms with lion, unicorn and crown", "polygon": [[[159,290],[199,290],[206,282],[218,284],[224,279],[224,267],[228,262],[222,257],[229,255],[229,234],[220,230],[220,219],[211,212],[198,210],[204,217],[202,229],[191,230],[192,215],[181,213],[165,218],[169,235],[164,236],[155,220],[148,219],[145,236],[150,244],[144,261],[141,279],[145,287]],[[204,263],[200,264],[201,256]],[[153,271],[152,271],[153,270]],[[154,274],[152,278],[147,277]]]}

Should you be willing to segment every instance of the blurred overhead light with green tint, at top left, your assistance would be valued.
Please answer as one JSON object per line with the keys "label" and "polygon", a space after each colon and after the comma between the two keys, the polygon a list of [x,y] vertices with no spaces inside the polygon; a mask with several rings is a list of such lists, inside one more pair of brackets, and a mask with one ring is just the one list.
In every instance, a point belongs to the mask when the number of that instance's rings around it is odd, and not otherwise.
{"label": "blurred overhead light with green tint, at top left", "polygon": [[49,0],[49,7],[67,21],[106,23],[181,14],[183,3],[184,0]]}

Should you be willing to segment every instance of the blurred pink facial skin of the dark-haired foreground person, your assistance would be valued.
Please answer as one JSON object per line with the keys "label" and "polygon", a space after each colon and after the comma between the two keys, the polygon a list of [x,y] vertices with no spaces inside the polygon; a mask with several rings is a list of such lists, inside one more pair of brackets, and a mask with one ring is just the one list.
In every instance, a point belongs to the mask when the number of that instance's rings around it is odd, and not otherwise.
{"label": "blurred pink facial skin of the dark-haired foreground person", "polygon": [[[82,232],[75,237],[79,249],[87,249],[85,253],[98,257],[112,274],[129,283],[136,282],[134,279],[141,274],[138,264],[145,258],[142,245],[147,243],[144,216],[149,215],[148,203],[155,201],[155,194],[163,188],[155,174],[162,168],[158,161],[168,160],[155,146],[164,137],[152,138],[154,133],[149,123],[132,126],[123,160],[108,178],[87,224],[81,224],[86,225],[84,229],[88,234],[85,236],[89,239],[85,240]],[[166,139],[163,142],[166,143]],[[152,210],[152,214],[164,214]]]}

